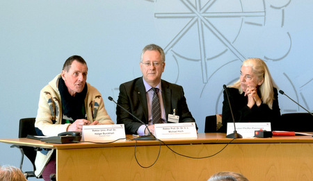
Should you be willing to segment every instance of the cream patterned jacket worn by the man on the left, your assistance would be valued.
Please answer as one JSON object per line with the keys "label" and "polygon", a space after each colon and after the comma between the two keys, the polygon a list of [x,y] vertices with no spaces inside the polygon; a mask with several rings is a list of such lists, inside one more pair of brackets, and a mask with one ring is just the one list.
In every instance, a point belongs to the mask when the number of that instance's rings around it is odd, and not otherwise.
{"label": "cream patterned jacket worn by the man on the left", "polygon": [[[56,136],[60,132],[67,131],[67,127],[70,126],[70,123],[61,124],[63,114],[61,96],[60,92],[58,92],[59,78],[61,78],[61,74],[58,74],[56,78],[51,80],[49,84],[40,91],[35,127],[42,130],[45,136]],[[109,114],[106,112],[101,94],[89,83],[87,83],[87,86],[88,90],[85,98],[87,119],[91,122],[97,120],[100,124],[113,124]],[[54,150],[49,150],[47,155],[42,154],[40,151],[37,152],[35,159],[36,176],[42,174],[53,151]]]}

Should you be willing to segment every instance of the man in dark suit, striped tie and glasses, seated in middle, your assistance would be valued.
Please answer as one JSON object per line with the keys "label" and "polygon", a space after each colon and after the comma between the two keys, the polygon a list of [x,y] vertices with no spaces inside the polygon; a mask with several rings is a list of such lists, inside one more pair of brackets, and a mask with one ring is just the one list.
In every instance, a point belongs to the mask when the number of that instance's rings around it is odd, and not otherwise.
{"label": "man in dark suit, striped tie and glasses, seated in middle", "polygon": [[[145,46],[139,64],[143,76],[120,85],[118,104],[146,123],[152,134],[154,123],[195,122],[182,86],[161,80],[165,67],[163,49],[155,44]],[[145,125],[119,106],[116,114],[117,123],[125,124],[127,135],[147,135]]]}

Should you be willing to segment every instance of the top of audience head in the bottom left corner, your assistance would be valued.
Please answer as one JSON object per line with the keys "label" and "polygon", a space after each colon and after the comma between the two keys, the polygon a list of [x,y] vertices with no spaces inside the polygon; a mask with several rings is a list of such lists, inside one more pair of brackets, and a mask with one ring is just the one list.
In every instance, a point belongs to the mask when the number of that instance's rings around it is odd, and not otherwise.
{"label": "top of audience head in the bottom left corner", "polygon": [[21,169],[16,166],[0,166],[1,181],[24,181],[26,180]]}

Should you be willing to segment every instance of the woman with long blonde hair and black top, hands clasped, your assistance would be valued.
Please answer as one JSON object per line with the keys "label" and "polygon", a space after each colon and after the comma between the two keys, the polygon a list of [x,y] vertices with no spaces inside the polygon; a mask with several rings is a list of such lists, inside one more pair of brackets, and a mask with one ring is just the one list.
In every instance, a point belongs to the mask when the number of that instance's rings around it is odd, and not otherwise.
{"label": "woman with long blonde hair and black top, hands clasped", "polygon": [[266,63],[249,58],[241,65],[240,78],[227,87],[230,103],[224,91],[221,132],[233,122],[230,105],[236,122],[273,122],[280,119],[278,91]]}

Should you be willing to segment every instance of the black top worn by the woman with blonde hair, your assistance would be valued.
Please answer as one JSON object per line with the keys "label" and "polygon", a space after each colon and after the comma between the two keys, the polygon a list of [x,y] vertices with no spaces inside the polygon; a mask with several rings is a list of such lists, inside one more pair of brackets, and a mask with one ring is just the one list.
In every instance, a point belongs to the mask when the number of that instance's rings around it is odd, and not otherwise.
{"label": "black top worn by the woman with blonde hair", "polygon": [[230,104],[232,105],[232,112],[234,114],[234,120],[236,122],[271,122],[271,127],[275,125],[275,121],[280,119],[280,107],[278,105],[278,92],[276,88],[274,90],[273,109],[271,110],[268,105],[262,103],[259,107],[253,105],[250,109],[248,107],[248,99],[243,92],[239,94],[239,90],[236,88],[227,88],[230,96],[230,103],[228,102],[227,95],[224,93],[223,101],[223,113],[222,123],[223,126],[218,130],[219,132],[226,132],[227,123],[233,123],[232,114],[230,112]]}

